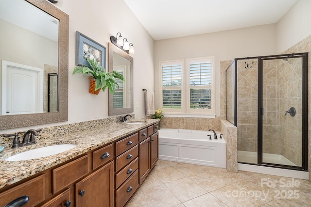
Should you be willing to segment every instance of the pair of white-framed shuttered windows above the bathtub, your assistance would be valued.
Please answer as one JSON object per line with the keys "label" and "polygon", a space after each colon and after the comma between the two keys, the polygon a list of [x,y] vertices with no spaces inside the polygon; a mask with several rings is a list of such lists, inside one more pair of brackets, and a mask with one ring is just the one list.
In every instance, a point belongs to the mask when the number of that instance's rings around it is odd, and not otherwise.
{"label": "pair of white-framed shuttered windows above the bathtub", "polygon": [[[164,113],[214,113],[214,57],[160,62]],[[185,74],[185,76],[184,76]]]}

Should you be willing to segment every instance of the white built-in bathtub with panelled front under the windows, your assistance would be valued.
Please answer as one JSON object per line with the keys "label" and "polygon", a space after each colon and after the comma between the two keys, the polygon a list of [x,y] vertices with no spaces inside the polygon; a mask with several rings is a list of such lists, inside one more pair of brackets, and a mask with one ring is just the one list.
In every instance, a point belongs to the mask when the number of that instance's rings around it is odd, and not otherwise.
{"label": "white built-in bathtub with panelled front under the windows", "polygon": [[[159,159],[226,168],[225,140],[200,130],[161,129]],[[207,135],[211,135],[211,140]]]}

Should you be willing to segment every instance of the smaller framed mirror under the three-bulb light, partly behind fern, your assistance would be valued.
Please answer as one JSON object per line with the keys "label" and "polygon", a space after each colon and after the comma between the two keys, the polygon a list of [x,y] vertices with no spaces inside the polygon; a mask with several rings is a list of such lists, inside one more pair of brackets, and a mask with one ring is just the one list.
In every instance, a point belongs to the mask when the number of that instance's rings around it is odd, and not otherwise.
{"label": "smaller framed mirror under the three-bulb light, partly behind fern", "polygon": [[117,80],[115,93],[108,93],[109,115],[133,113],[133,57],[108,43],[108,71],[121,73],[125,82]]}

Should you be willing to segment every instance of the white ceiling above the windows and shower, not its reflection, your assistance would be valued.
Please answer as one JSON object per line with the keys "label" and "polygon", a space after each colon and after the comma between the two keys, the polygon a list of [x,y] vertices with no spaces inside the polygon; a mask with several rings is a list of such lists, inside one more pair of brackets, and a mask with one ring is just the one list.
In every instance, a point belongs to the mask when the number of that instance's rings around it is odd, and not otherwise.
{"label": "white ceiling above the windows and shower, not its reflection", "polygon": [[155,39],[276,23],[297,0],[124,0]]}

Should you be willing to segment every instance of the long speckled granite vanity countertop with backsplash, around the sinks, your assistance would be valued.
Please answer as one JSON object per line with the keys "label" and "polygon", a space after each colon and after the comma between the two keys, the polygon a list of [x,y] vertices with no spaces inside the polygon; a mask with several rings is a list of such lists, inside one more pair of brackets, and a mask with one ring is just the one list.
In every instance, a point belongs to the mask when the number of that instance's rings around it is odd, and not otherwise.
{"label": "long speckled granite vanity countertop with backsplash, around the sinks", "polygon": [[[101,119],[83,123],[69,124],[45,128],[40,132],[36,144],[11,149],[12,140],[4,140],[4,150],[0,152],[0,188],[14,184],[22,179],[35,175],[60,163],[68,161],[88,151],[104,146],[114,140],[124,137],[140,129],[158,122],[157,119],[132,119],[130,121],[143,121],[143,124],[130,125],[115,122],[114,119]],[[28,151],[53,144],[76,144],[69,151],[56,155],[25,161],[4,161],[5,158],[21,151]]]}

